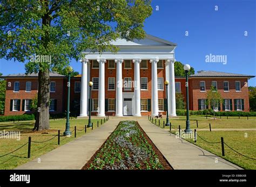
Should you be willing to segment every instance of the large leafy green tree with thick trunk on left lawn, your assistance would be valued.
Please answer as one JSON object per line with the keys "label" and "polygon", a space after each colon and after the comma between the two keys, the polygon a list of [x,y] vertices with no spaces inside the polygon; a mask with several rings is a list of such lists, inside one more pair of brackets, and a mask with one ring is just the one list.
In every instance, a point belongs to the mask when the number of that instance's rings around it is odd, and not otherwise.
{"label": "large leafy green tree with thick trunk on left lawn", "polygon": [[26,62],[38,72],[38,114],[34,130],[49,128],[49,71],[64,69],[82,52],[117,52],[111,41],[142,39],[152,13],[147,0],[1,1],[0,58]]}

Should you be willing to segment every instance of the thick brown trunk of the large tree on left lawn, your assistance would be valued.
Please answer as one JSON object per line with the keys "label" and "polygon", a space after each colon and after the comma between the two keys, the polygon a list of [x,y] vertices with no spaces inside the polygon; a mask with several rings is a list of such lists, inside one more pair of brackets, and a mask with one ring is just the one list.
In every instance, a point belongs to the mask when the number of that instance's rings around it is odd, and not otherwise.
{"label": "thick brown trunk of the large tree on left lawn", "polygon": [[37,115],[33,130],[49,129],[49,104],[50,104],[50,75],[49,70],[39,70],[38,73],[38,96]]}

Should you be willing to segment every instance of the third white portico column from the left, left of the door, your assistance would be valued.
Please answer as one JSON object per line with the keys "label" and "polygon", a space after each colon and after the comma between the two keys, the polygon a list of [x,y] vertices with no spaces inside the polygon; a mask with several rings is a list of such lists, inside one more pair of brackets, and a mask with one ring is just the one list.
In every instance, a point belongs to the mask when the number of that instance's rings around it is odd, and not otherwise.
{"label": "third white portico column from the left, left of the door", "polygon": [[123,116],[123,85],[122,85],[122,62],[123,59],[114,60],[117,63],[117,84],[116,84],[116,116]]}

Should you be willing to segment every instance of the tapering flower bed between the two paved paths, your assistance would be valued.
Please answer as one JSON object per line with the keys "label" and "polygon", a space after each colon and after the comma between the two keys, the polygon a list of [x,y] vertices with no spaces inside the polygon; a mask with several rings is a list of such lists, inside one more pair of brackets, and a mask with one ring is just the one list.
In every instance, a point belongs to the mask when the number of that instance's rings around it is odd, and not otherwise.
{"label": "tapering flower bed between the two paved paths", "polygon": [[172,169],[136,121],[121,121],[83,169]]}

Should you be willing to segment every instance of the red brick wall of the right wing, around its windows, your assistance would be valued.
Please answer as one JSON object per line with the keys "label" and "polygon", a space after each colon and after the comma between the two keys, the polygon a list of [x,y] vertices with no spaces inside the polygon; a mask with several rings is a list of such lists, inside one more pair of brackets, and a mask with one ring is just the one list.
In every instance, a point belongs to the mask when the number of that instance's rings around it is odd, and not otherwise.
{"label": "red brick wall of the right wing, around its windows", "polygon": [[[222,98],[232,99],[232,109],[234,110],[234,99],[244,99],[244,111],[249,111],[249,97],[247,78],[192,78],[192,94],[193,94],[193,109],[198,110],[198,99],[206,98],[206,92],[200,91],[200,81],[205,81],[206,91],[211,89],[212,81],[217,81],[217,88]],[[224,81],[228,81],[229,92],[224,92]],[[241,92],[235,91],[235,81],[240,81]],[[210,106],[209,106],[210,107]],[[220,106],[222,109],[222,105]]]}

